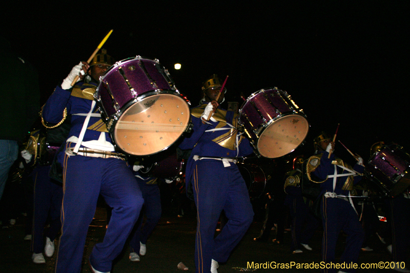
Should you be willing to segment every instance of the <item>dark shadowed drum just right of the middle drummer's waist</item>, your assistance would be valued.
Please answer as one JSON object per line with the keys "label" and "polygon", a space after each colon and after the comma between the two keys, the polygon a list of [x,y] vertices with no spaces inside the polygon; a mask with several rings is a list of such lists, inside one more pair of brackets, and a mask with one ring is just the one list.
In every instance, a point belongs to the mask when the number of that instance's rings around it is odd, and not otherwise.
{"label": "dark shadowed drum just right of the middle drummer's waist", "polygon": [[236,163],[251,198],[258,198],[265,192],[266,176],[262,169],[255,164]]}

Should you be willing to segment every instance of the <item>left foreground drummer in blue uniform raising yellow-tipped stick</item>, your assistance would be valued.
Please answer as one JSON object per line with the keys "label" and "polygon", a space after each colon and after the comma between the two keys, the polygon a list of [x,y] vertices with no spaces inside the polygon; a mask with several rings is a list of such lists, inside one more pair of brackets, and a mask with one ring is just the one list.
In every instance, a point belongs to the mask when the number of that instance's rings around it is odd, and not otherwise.
{"label": "left foreground drummer in blue uniform raising yellow-tipped stick", "polygon": [[[124,247],[144,203],[125,156],[114,152],[93,99],[99,77],[112,64],[113,59],[106,52],[95,55],[90,65],[80,62],[55,88],[43,108],[43,117],[50,123],[60,122],[65,109],[72,115],[69,138],[57,154],[63,167],[64,191],[56,259],[58,273],[80,272],[87,230],[99,194],[113,210],[103,242],[97,243],[90,255],[90,267],[95,273],[111,270],[112,261]],[[79,73],[84,80],[71,88]]]}

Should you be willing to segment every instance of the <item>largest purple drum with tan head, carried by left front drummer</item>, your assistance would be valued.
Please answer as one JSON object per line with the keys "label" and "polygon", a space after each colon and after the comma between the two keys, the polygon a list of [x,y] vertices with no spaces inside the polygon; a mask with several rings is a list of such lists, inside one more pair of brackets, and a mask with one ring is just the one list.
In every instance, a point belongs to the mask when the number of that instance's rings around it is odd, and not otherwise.
{"label": "largest purple drum with tan head, carried by left front drummer", "polygon": [[166,150],[188,129],[189,102],[157,59],[116,62],[94,94],[116,146],[145,156]]}

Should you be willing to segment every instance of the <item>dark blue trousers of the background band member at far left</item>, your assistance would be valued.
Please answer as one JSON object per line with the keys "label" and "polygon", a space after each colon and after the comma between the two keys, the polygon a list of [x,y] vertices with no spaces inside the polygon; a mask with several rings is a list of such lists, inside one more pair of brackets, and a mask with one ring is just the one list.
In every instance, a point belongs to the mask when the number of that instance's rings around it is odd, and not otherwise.
{"label": "dark blue trousers of the background band member at far left", "polygon": [[63,202],[63,187],[52,182],[48,176],[50,166],[35,167],[34,180],[34,213],[31,251],[42,253],[44,248],[44,227],[50,215],[50,228],[45,236],[54,241],[61,229],[60,211]]}

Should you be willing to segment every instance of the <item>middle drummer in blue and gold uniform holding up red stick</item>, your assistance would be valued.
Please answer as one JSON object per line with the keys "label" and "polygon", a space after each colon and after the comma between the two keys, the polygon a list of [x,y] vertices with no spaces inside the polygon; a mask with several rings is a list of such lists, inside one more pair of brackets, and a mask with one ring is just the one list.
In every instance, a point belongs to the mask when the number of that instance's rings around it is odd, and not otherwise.
{"label": "middle drummer in blue and gold uniform holding up red stick", "polygon": [[[192,184],[197,207],[197,273],[217,272],[218,262],[228,260],[254,215],[245,181],[235,164],[235,157],[252,154],[253,149],[237,130],[237,114],[219,107],[224,98],[221,88],[216,74],[203,82],[200,106],[191,110],[193,132],[179,145],[182,150],[192,149],[186,181],[187,189]],[[228,222],[214,238],[222,210]]]}

